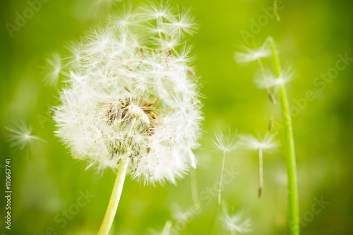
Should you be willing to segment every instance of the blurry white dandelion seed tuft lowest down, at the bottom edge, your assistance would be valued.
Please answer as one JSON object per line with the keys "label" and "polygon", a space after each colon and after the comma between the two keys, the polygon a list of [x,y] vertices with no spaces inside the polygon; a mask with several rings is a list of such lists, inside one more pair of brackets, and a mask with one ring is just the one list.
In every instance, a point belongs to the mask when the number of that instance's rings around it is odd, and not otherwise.
{"label": "blurry white dandelion seed tuft lowest down, at the bottom edge", "polygon": [[244,215],[241,212],[234,213],[233,209],[232,212],[229,213],[227,205],[225,204],[222,205],[222,215],[220,216],[220,222],[222,223],[224,229],[230,231],[231,235],[235,235],[237,232],[245,234],[251,232],[252,230],[251,219],[244,218]]}

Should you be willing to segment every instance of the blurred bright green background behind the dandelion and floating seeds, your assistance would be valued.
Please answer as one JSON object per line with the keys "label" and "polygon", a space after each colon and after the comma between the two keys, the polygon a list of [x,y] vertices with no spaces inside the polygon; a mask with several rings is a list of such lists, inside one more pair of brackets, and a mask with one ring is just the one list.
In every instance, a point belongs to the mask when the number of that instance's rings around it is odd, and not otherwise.
{"label": "blurred bright green background behind the dandelion and floating seeds", "polygon": [[[118,1],[119,8],[127,1]],[[280,1],[279,1],[280,2]],[[140,1],[132,1],[138,6]],[[211,143],[217,128],[238,133],[260,133],[268,128],[271,104],[263,90],[253,85],[256,64],[239,66],[234,52],[241,45],[260,46],[268,35],[280,49],[282,64],[292,64],[297,74],[287,87],[292,107],[297,151],[301,234],[353,234],[352,188],[352,61],[334,79],[315,83],[321,74],[333,73],[337,54],[353,57],[353,1],[283,0],[281,20],[266,15],[273,1],[179,0],[172,4],[191,6],[199,25],[191,38],[194,62],[203,88],[203,139],[196,151],[201,212],[188,222],[174,219],[181,234],[229,234],[222,229],[217,214],[217,196],[212,196],[220,178],[222,155]],[[13,32],[16,12],[29,7],[24,0],[1,1],[1,230],[0,234],[96,234],[112,191],[114,174],[103,176],[85,171],[85,162],[76,162],[54,137],[49,107],[56,104],[57,88],[42,84],[42,66],[52,52],[61,52],[66,42],[77,40],[95,23],[107,20],[104,3],[92,0],[50,0]],[[266,20],[267,19],[267,20]],[[253,22],[260,20],[261,25]],[[262,21],[261,21],[262,20]],[[251,36],[244,41],[241,32]],[[321,88],[321,89],[320,89]],[[304,100],[305,93],[314,100]],[[298,103],[299,102],[299,103]],[[302,106],[300,108],[300,106]],[[297,108],[296,108],[297,107]],[[300,108],[300,109],[299,109]],[[299,111],[299,112],[298,112]],[[44,121],[43,121],[44,119]],[[6,142],[4,126],[25,121],[33,134],[47,140],[32,152],[15,152]],[[278,128],[280,110],[275,109]],[[283,132],[277,138],[283,143]],[[264,158],[265,191],[257,197],[258,159],[255,152],[227,155],[226,168],[237,176],[227,183],[222,198],[235,210],[244,210],[253,219],[251,234],[287,234],[287,189],[283,144]],[[12,229],[4,229],[4,159],[12,159]],[[217,187],[216,187],[217,188]],[[95,195],[87,205],[76,207],[80,193]],[[209,193],[211,192],[211,194]],[[211,195],[211,196],[210,196]],[[316,200],[325,200],[321,212],[314,213]],[[173,220],[173,205],[189,210],[193,205],[191,179],[186,176],[177,186],[140,186],[129,177],[125,182],[112,234],[147,234],[161,230]],[[66,210],[75,215],[64,218]],[[74,209],[75,209],[74,208]],[[58,222],[61,219],[61,222]],[[181,224],[181,225],[180,225]],[[49,228],[49,230],[48,230]]]}

